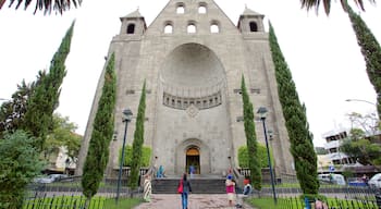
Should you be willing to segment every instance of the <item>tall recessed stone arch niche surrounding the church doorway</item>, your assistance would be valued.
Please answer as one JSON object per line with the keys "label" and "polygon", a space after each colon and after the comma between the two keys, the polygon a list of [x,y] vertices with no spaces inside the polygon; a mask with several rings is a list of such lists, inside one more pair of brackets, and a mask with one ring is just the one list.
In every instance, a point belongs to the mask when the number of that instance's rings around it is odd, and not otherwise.
{"label": "tall recessed stone arch niche surrounding the church doorway", "polygon": [[[168,174],[186,171],[186,150],[199,150],[200,174],[229,167],[232,138],[225,69],[210,48],[188,42],[175,47],[159,70],[153,156]],[[219,151],[223,150],[223,151]]]}

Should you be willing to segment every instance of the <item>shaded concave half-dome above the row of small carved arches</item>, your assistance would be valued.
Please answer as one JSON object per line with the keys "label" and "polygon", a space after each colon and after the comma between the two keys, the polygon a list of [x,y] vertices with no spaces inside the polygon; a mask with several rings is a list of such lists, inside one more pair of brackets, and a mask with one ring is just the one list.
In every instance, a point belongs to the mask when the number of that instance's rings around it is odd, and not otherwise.
{"label": "shaded concave half-dome above the row of small carved arches", "polygon": [[160,70],[160,79],[164,90],[174,91],[175,95],[207,94],[221,88],[225,72],[211,49],[188,42],[177,46],[167,56]]}

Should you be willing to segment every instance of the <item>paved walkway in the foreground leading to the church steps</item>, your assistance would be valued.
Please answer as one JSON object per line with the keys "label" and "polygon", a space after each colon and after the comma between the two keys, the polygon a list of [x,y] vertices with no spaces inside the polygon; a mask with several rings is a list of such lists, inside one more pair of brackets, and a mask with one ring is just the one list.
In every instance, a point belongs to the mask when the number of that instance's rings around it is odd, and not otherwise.
{"label": "paved walkway in the foreground leading to the church steps", "polygon": [[[151,202],[144,202],[135,207],[135,209],[179,209],[181,208],[180,195],[152,195]],[[244,208],[253,209],[245,205]],[[229,207],[225,194],[208,195],[208,194],[190,194],[188,196],[188,209],[235,209]]]}

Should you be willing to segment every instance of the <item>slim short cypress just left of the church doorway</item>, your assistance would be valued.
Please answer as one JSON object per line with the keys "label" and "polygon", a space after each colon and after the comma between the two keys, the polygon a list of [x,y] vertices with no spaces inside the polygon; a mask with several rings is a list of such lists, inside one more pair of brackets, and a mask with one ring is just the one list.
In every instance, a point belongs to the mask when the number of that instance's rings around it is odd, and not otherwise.
{"label": "slim short cypress just left of the church doorway", "polygon": [[144,122],[146,115],[146,81],[143,84],[139,107],[137,110],[134,142],[133,142],[133,161],[131,163],[131,174],[128,186],[136,188],[139,181],[139,170],[142,165],[143,144],[144,144]]}

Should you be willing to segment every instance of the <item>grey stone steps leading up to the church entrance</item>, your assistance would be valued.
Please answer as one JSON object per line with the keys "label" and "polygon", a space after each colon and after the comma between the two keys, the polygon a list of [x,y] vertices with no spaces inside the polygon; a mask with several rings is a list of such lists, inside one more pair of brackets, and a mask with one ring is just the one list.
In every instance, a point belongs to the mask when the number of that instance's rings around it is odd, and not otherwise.
{"label": "grey stone steps leading up to the church entrance", "polygon": [[[176,194],[180,177],[152,180],[153,194]],[[224,194],[225,179],[221,176],[195,176],[189,179],[193,194]]]}

